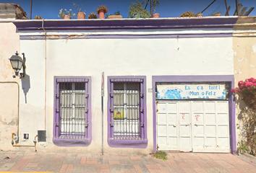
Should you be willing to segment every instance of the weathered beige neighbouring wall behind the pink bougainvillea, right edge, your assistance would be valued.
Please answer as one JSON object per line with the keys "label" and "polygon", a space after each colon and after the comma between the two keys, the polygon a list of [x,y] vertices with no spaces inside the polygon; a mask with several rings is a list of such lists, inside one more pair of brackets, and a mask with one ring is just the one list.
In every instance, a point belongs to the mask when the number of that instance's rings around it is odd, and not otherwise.
{"label": "weathered beige neighbouring wall behind the pink bougainvillea, right edge", "polygon": [[[234,78],[237,86],[239,81],[256,77],[256,17],[239,17],[234,26],[233,47]],[[236,95],[236,124],[240,127],[242,122],[239,115],[245,106],[242,98]],[[236,131],[237,142],[241,140],[239,129]]]}

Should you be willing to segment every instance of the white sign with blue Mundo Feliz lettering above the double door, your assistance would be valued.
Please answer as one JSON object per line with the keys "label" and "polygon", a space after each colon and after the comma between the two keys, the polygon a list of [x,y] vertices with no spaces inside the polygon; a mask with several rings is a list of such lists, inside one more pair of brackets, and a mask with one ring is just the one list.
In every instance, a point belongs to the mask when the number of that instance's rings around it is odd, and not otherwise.
{"label": "white sign with blue Mundo Feliz lettering above the double door", "polygon": [[158,83],[157,99],[226,99],[225,83]]}

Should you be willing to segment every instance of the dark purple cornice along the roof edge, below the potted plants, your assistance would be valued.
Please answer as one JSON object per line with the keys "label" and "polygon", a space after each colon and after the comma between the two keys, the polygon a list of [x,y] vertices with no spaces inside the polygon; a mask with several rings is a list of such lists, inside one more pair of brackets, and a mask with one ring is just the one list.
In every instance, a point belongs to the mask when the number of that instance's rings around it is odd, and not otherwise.
{"label": "dark purple cornice along the roof edge, below the potted plants", "polygon": [[[166,30],[181,28],[232,28],[238,17],[159,18],[159,19],[83,19],[15,20],[21,30]],[[43,28],[42,28],[43,26]]]}

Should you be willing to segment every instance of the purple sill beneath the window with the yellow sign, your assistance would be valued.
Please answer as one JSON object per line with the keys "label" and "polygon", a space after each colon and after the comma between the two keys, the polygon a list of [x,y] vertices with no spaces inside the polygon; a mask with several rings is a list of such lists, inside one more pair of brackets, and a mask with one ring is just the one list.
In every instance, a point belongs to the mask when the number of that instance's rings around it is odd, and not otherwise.
{"label": "purple sill beneath the window with the yellow sign", "polygon": [[108,146],[113,148],[147,148],[148,139],[144,140],[118,140],[108,139]]}

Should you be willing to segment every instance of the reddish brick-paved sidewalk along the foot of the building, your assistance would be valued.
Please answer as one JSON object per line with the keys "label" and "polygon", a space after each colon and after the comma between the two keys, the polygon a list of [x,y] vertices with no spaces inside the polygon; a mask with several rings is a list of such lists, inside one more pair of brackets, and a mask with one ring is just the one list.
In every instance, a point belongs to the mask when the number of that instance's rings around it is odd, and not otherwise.
{"label": "reddish brick-paved sidewalk along the foot of the building", "polygon": [[168,160],[163,161],[151,155],[0,151],[0,172],[256,172],[252,159],[247,159],[232,154],[168,152]]}

